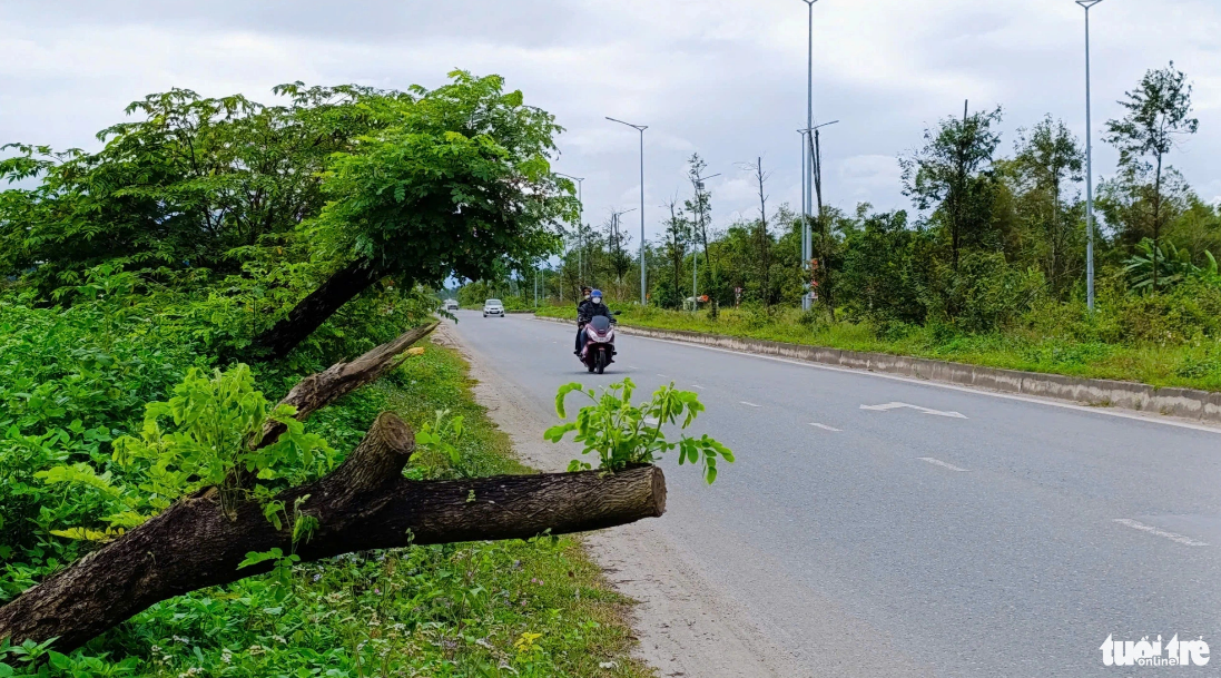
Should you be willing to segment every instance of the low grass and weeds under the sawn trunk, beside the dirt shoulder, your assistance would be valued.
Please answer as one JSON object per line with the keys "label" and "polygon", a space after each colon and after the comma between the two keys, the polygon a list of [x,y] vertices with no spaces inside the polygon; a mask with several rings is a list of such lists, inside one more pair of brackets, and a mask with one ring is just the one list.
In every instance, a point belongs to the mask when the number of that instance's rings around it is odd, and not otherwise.
{"label": "low grass and weeds under the sawn trunk, beside the dirt shoulder", "polygon": [[[416,429],[437,410],[464,418],[453,441],[458,468],[425,453],[409,476],[531,473],[474,401],[468,366],[448,348],[429,344],[319,413],[310,430],[348,441],[380,409]],[[295,567],[283,583],[263,575],[179,596],[87,651],[159,678],[654,676],[629,655],[629,603],[571,538],[426,546],[352,553]]]}

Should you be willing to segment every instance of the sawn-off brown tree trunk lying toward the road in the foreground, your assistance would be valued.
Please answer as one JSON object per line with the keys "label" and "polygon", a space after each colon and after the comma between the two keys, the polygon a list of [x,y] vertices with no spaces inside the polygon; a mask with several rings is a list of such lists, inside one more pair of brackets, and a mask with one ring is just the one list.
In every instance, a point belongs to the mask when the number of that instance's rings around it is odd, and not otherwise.
{"label": "sawn-off brown tree trunk lying toward the road in the foreground", "polygon": [[[421,483],[402,476],[411,430],[383,413],[335,472],[280,495],[308,496],[302,512],[319,520],[303,562],[353,551],[454,541],[568,534],[661,516],[665,480],[656,467]],[[215,491],[193,496],[77,561],[0,608],[0,638],[57,638],[67,651],[150,605],[271,569],[238,564],[250,551],[292,550],[292,529],[275,529],[256,502],[231,518]]]}

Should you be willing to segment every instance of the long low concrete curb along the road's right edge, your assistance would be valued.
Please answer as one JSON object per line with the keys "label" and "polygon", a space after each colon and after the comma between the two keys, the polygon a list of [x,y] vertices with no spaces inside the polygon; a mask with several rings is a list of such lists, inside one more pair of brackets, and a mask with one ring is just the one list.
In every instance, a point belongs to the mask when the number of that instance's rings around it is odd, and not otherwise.
{"label": "long low concrete curb along the road's right edge", "polygon": [[[573,323],[571,320],[538,318],[537,315],[535,315],[535,319],[569,325]],[[1147,384],[1132,381],[1005,370],[966,363],[951,363],[947,360],[891,355],[889,353],[864,353],[860,351],[842,351],[839,348],[823,348],[800,343],[680,330],[654,330],[651,327],[620,325],[619,331],[625,335],[713,346],[758,355],[779,355],[807,363],[927,379],[929,381],[973,386],[1002,393],[1021,393],[1092,406],[1154,412],[1214,424],[1221,423],[1221,393],[1198,391],[1195,388],[1156,388]]]}

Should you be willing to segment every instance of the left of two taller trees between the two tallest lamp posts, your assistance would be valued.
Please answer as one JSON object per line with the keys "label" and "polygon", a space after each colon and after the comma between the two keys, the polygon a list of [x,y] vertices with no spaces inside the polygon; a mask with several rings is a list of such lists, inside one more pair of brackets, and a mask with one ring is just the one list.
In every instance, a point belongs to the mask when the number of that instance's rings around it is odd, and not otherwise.
{"label": "left of two taller trees between the two tallest lamp posts", "polygon": [[937,129],[924,131],[924,147],[900,158],[904,195],[921,210],[934,209],[946,226],[950,259],[958,270],[960,250],[982,244],[991,225],[991,164],[1000,145],[1001,110],[946,118]]}

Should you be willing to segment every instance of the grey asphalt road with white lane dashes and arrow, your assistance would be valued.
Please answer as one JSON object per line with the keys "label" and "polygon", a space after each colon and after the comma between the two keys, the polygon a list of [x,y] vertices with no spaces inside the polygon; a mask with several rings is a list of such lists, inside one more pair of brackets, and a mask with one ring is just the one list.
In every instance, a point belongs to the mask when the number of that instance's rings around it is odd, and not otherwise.
{"label": "grey asphalt road with white lane dashes and arrow", "polygon": [[625,335],[589,375],[574,329],[458,316],[540,412],[569,381],[701,395],[737,463],[708,487],[667,459],[661,520],[813,674],[1221,676],[1100,651],[1221,655],[1219,431]]}

